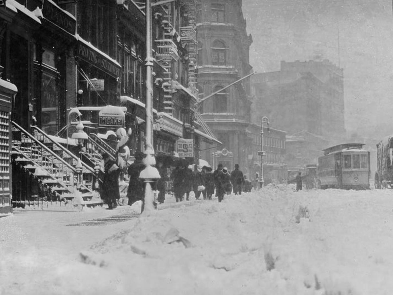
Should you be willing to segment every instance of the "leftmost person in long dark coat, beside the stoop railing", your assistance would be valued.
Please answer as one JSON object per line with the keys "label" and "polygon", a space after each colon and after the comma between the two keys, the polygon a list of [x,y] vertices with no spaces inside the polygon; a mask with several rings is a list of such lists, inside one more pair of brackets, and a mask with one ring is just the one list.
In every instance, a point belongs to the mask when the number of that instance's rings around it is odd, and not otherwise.
{"label": "leftmost person in long dark coat, beside the stoop railing", "polygon": [[102,155],[104,160],[104,179],[101,184],[101,198],[107,201],[108,209],[112,210],[118,206],[119,192],[119,166],[110,159],[108,153]]}

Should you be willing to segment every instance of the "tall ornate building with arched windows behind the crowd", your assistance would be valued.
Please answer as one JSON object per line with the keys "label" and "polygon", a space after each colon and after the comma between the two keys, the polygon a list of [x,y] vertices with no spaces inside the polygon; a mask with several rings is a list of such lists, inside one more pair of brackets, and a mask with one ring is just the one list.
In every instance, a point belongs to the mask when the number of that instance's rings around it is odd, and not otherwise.
{"label": "tall ornate building with arched windows behind the crowd", "polygon": [[[198,41],[199,98],[217,92],[252,71],[249,64],[251,35],[246,33],[246,20],[241,0],[198,0],[196,11]],[[251,117],[249,78],[215,94],[200,104],[199,112],[222,146],[202,151],[202,159],[226,149],[235,163],[244,169],[247,163],[246,128]],[[206,147],[208,148],[208,146]],[[213,160],[213,159],[212,159]]]}

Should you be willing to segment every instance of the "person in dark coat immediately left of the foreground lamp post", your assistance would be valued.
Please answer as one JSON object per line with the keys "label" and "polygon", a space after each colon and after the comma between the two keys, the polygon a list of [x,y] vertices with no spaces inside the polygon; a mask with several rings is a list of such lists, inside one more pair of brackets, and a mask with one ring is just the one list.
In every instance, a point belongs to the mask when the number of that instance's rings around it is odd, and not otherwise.
{"label": "person in dark coat immediately left of the foreground lamp post", "polygon": [[139,178],[139,175],[143,169],[145,169],[145,164],[143,164],[143,153],[136,152],[134,157],[135,161],[128,167],[128,176],[130,179],[128,190],[127,190],[127,197],[128,197],[128,205],[131,206],[136,201],[143,201],[145,200],[145,192],[143,181]]}

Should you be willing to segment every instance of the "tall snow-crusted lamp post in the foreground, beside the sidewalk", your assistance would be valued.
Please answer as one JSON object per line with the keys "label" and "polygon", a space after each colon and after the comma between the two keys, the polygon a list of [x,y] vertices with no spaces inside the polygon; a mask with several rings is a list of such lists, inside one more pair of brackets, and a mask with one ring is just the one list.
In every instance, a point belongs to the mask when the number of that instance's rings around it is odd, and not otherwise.
{"label": "tall snow-crusted lamp post in the foreground, beside the sidewalk", "polygon": [[154,193],[152,191],[151,183],[157,181],[160,178],[160,173],[157,168],[153,167],[156,164],[154,159],[154,148],[153,148],[153,86],[152,86],[152,68],[153,68],[153,57],[152,57],[152,29],[151,29],[151,0],[146,0],[146,133],[145,133],[145,158],[143,163],[145,169],[143,169],[139,175],[145,183],[145,197],[142,203],[141,212],[151,212],[155,209],[154,206]]}

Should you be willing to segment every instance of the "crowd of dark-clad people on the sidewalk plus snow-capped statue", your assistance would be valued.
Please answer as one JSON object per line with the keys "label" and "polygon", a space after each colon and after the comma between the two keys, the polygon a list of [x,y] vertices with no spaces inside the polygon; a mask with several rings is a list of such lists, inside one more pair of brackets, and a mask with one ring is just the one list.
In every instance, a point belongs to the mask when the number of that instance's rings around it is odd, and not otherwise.
{"label": "crowd of dark-clad people on the sidewalk plus snow-capped statue", "polygon": [[[118,205],[120,198],[119,180],[128,181],[127,198],[128,205],[131,206],[136,201],[144,201],[145,184],[140,179],[140,173],[145,168],[143,163],[144,154],[136,152],[134,162],[130,163],[130,151],[127,142],[130,136],[124,128],[119,128],[116,132],[117,146],[116,159],[113,160],[108,153],[103,153],[104,175],[100,185],[101,198],[108,204],[108,209],[114,209]],[[190,193],[193,192],[195,199],[211,200],[213,194],[221,202],[225,195],[232,193],[241,195],[242,192],[250,192],[253,184],[248,180],[241,170],[239,164],[235,164],[235,169],[229,171],[228,168],[218,164],[213,171],[210,166],[186,165],[182,162],[175,167],[168,169],[162,161],[156,163],[156,168],[160,174],[160,179],[152,184],[152,189],[158,192],[155,205],[165,201],[167,183],[172,183],[172,193],[176,202],[183,201],[184,197],[189,201]],[[170,173],[168,173],[171,170]],[[170,175],[169,175],[170,174]],[[143,206],[143,205],[142,205]]]}

